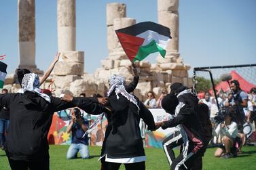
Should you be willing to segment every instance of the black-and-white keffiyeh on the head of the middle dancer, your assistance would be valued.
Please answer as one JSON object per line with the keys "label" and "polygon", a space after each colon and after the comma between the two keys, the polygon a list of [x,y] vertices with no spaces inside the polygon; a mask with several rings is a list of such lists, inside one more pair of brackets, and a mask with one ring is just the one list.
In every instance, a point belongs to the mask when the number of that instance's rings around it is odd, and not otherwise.
{"label": "black-and-white keffiyeh on the head of the middle dancer", "polygon": [[112,93],[112,91],[115,90],[115,95],[117,96],[117,100],[120,98],[118,96],[118,94],[120,93],[128,101],[132,102],[139,108],[138,103],[137,103],[136,99],[134,98],[134,96],[126,91],[126,87],[124,86],[125,83],[126,83],[126,79],[124,79],[124,77],[122,77],[120,75],[112,75],[111,77],[109,77],[110,89],[107,92],[107,97],[109,97],[109,95]]}

